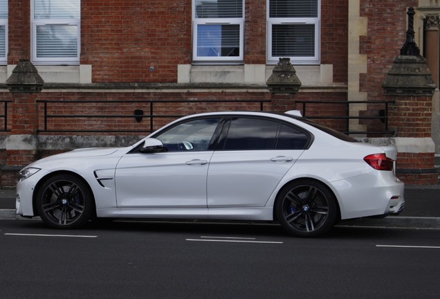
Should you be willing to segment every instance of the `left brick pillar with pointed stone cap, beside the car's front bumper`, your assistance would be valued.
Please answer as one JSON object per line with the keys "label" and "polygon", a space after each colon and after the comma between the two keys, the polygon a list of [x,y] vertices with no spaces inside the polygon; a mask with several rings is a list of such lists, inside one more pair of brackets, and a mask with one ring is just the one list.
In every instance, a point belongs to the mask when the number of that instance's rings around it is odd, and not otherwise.
{"label": "left brick pillar with pointed stone cap, beside the car's front bumper", "polygon": [[20,60],[6,80],[12,98],[12,128],[6,142],[6,166],[1,169],[1,185],[15,185],[21,167],[35,161],[37,154],[37,96],[44,81],[35,66]]}

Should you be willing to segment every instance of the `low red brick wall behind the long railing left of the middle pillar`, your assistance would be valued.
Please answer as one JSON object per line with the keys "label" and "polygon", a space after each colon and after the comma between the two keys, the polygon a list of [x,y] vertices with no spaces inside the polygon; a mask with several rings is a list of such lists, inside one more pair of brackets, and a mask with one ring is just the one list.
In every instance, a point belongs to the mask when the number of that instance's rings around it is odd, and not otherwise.
{"label": "low red brick wall behind the long railing left of the middle pillar", "polygon": [[[210,100],[270,100],[270,93],[266,92],[169,92],[169,93],[143,93],[143,92],[51,92],[40,93],[39,100],[63,100],[66,102],[48,104],[49,115],[105,115],[114,116],[109,118],[49,118],[48,130],[135,130],[147,132],[149,130],[149,118],[144,118],[137,123],[134,117],[135,109],[142,109],[144,115],[150,114],[149,102],[130,102],[135,100],[155,100],[153,114],[155,116],[167,116],[154,119],[154,129],[169,123],[178,116],[195,114],[208,111],[233,111],[233,110],[259,110],[259,102],[201,102]],[[71,100],[80,103],[68,102]],[[104,102],[91,103],[91,100],[103,100]],[[124,102],[111,102],[111,101]],[[172,100],[188,100],[191,102],[170,102]],[[107,101],[107,102],[105,102]],[[43,103],[39,103],[39,129],[44,128]],[[264,110],[271,110],[271,103],[264,104]],[[129,116],[129,117],[120,117]],[[107,133],[101,133],[107,134]],[[122,133],[127,135],[127,133]],[[131,133],[131,135],[138,135]]]}

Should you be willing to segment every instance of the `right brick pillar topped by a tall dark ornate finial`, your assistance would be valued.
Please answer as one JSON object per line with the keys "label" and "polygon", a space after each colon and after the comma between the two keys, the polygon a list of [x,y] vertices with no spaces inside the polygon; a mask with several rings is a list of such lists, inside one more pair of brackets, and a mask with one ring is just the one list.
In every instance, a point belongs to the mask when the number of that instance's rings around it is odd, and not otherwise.
{"label": "right brick pillar topped by a tall dark ornate finial", "polygon": [[385,95],[395,100],[389,110],[389,127],[396,131],[396,174],[405,183],[435,184],[438,174],[434,166],[431,120],[436,84],[414,42],[414,9],[410,8],[407,15],[406,42],[382,85]]}

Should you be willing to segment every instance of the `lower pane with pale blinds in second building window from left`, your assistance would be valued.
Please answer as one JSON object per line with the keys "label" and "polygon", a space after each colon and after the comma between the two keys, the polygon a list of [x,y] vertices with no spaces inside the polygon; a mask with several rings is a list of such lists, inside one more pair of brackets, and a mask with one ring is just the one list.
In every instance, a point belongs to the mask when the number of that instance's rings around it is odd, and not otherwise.
{"label": "lower pane with pale blinds in second building window from left", "polygon": [[37,57],[77,57],[77,26],[37,26]]}

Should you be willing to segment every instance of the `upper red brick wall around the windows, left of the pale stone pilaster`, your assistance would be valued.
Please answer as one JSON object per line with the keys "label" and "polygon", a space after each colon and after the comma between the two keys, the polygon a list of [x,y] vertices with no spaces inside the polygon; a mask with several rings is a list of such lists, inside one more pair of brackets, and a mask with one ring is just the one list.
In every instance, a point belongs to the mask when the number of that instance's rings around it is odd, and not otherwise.
{"label": "upper red brick wall around the windows, left of the pale stone pilaster", "polygon": [[[93,82],[176,82],[192,61],[192,1],[82,1],[81,64]],[[266,63],[266,1],[247,0],[244,60]],[[9,2],[9,64],[30,58],[30,0]],[[322,0],[321,59],[347,82],[348,0]],[[150,66],[154,71],[150,72]]]}

